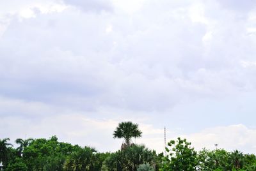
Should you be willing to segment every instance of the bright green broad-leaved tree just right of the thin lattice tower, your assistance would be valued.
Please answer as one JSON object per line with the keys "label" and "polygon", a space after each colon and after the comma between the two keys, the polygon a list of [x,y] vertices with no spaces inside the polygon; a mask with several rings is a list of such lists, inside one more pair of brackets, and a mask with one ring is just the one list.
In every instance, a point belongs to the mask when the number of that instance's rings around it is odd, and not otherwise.
{"label": "bright green broad-leaved tree just right of the thin lattice tower", "polygon": [[161,170],[196,170],[198,166],[196,151],[190,145],[191,143],[186,139],[178,138],[176,143],[171,140],[168,143],[170,149],[166,147],[169,154],[164,158]]}

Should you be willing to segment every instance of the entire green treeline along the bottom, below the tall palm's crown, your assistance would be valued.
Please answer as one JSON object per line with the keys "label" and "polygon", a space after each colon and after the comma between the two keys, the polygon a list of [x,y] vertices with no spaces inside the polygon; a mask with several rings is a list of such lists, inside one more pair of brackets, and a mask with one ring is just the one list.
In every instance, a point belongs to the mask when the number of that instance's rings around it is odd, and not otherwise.
{"label": "entire green treeline along the bottom, below the tall palm's crown", "polygon": [[92,147],[80,147],[58,142],[53,136],[16,142],[13,148],[8,138],[0,140],[0,160],[4,170],[256,170],[254,154],[224,149],[202,149],[196,152],[186,139],[168,143],[168,156],[157,154],[144,145],[131,144],[116,152],[97,152]]}

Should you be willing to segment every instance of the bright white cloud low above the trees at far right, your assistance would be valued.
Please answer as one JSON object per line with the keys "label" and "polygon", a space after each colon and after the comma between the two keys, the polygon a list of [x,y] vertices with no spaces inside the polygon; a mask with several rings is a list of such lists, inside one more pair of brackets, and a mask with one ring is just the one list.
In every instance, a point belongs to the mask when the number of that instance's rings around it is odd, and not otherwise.
{"label": "bright white cloud low above the trees at far right", "polygon": [[186,137],[191,140],[196,149],[202,149],[202,147],[214,149],[214,144],[218,144],[219,148],[227,151],[238,149],[246,153],[256,153],[255,135],[255,129],[236,124],[207,128]]}

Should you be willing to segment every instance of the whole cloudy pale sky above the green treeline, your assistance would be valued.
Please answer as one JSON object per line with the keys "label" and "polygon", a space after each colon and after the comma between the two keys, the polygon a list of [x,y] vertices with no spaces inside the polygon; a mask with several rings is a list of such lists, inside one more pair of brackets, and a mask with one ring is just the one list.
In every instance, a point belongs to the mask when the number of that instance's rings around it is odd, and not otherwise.
{"label": "whole cloudy pale sky above the green treeline", "polygon": [[256,1],[0,0],[0,138],[256,153]]}

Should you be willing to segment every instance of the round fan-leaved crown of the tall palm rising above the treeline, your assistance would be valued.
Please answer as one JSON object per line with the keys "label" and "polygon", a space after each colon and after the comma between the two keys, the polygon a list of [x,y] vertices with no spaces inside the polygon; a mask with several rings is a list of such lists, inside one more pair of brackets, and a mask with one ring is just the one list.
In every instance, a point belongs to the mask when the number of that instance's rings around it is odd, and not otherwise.
{"label": "round fan-leaved crown of the tall palm rising above the treeline", "polygon": [[124,138],[125,143],[122,147],[131,145],[131,138],[141,137],[142,132],[138,128],[138,124],[132,122],[122,122],[118,124],[118,127],[114,131],[114,138]]}

